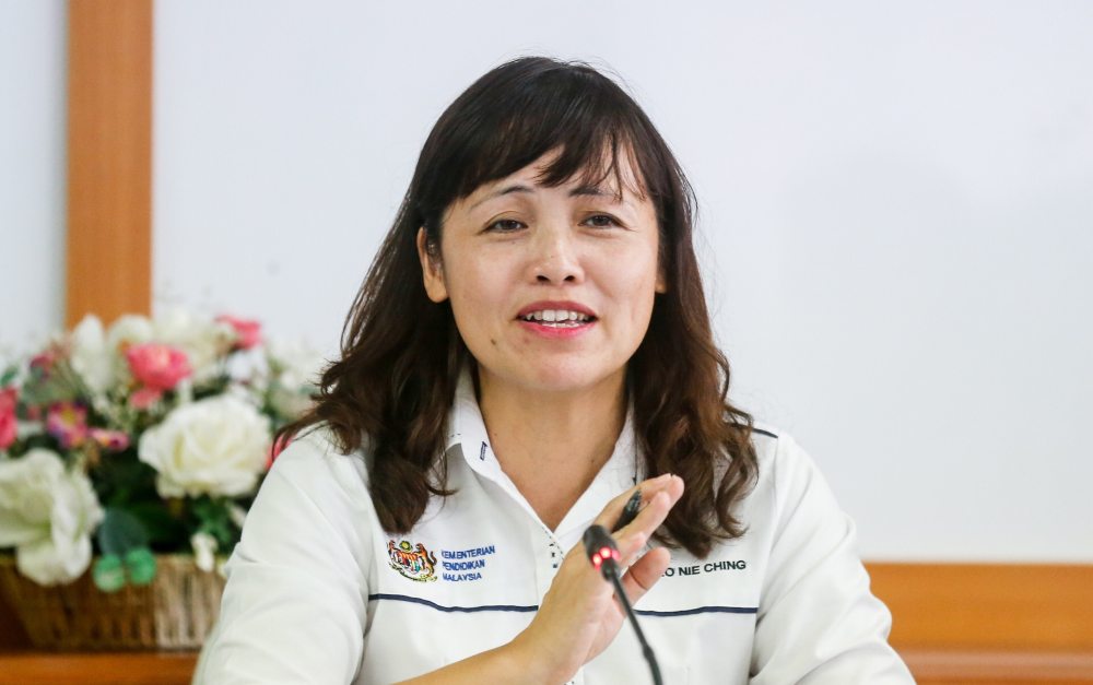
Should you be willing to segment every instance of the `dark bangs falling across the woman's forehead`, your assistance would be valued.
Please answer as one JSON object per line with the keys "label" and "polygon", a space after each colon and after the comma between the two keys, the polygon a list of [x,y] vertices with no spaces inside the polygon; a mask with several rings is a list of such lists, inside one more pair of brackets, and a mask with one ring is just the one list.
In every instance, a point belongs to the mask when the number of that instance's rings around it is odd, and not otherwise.
{"label": "dark bangs falling across the woman's forehead", "polygon": [[455,181],[449,202],[552,151],[557,154],[538,177],[543,186],[574,180],[600,188],[613,177],[619,200],[624,189],[644,199],[650,182],[654,194],[661,190],[657,165],[648,153],[642,154],[656,149],[647,140],[649,129],[614,82],[590,68],[573,67],[543,70],[532,79],[506,75],[500,82],[475,83],[465,94],[469,102],[463,103],[463,126],[456,123],[462,129],[456,138],[465,144],[449,157],[451,164],[444,165],[448,182]]}

